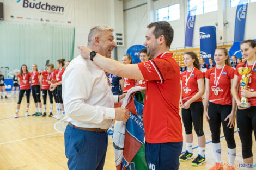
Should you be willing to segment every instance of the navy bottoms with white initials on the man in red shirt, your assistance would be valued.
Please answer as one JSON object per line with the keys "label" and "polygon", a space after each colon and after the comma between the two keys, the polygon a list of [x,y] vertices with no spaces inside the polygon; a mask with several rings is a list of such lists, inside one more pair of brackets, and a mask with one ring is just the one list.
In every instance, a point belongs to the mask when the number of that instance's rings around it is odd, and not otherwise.
{"label": "navy bottoms with white initials on the man in red shirt", "polygon": [[149,170],[178,170],[183,142],[145,143],[145,156]]}

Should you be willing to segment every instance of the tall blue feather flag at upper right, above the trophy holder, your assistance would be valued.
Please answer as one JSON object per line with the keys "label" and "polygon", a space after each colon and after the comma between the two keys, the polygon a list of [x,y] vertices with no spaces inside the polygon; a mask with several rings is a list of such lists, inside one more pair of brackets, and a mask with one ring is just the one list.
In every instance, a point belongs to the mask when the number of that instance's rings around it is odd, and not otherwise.
{"label": "tall blue feather flag at upper right, above the trophy holder", "polygon": [[245,21],[247,12],[247,0],[240,0],[236,9],[234,41],[243,41],[245,35]]}

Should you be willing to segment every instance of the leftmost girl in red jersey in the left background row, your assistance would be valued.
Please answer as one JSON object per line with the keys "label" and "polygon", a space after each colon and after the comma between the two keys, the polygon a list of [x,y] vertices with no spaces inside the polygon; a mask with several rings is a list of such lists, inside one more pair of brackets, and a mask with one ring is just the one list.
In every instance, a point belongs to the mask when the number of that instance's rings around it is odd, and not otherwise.
{"label": "leftmost girl in red jersey in the left background row", "polygon": [[24,96],[24,93],[26,92],[26,97],[27,97],[27,108],[26,108],[26,113],[25,116],[29,116],[28,114],[28,108],[29,108],[29,99],[30,99],[30,83],[29,83],[29,77],[30,77],[30,73],[28,72],[28,67],[26,64],[23,64],[21,66],[21,70],[20,73],[18,74],[18,82],[20,85],[20,93],[19,93],[19,100],[18,100],[18,104],[17,104],[17,110],[15,113],[14,118],[18,118],[19,117],[19,109],[21,106],[21,100],[22,97]]}

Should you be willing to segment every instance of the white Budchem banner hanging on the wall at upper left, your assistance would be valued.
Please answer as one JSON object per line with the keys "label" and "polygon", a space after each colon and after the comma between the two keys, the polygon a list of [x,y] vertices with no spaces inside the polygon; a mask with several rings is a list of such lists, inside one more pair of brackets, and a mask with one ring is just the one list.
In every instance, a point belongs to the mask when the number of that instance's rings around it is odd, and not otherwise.
{"label": "white Budchem banner hanging on the wall at upper left", "polygon": [[74,25],[72,0],[4,1],[4,20]]}

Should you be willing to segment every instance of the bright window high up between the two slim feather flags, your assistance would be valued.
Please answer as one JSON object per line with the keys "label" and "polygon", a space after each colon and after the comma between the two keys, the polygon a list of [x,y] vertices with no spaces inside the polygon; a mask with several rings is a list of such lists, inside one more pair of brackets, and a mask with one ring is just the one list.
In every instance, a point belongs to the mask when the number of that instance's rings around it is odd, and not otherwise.
{"label": "bright window high up between the two slim feather flags", "polygon": [[194,6],[197,6],[196,15],[204,14],[212,11],[217,11],[218,1],[217,0],[189,0],[188,10],[191,10]]}

